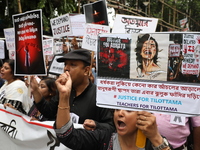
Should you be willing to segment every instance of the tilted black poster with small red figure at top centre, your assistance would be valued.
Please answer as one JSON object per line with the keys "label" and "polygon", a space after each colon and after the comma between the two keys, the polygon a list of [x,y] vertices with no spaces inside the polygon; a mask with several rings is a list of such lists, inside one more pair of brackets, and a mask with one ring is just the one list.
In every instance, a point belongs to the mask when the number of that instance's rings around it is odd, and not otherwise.
{"label": "tilted black poster with small red figure at top centre", "polygon": [[86,23],[108,25],[108,14],[105,0],[83,5]]}

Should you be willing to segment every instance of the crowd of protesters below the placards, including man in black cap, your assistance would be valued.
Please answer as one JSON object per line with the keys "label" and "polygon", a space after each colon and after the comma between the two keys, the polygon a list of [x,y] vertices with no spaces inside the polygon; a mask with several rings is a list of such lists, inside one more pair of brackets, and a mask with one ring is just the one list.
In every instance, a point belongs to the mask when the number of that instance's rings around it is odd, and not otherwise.
{"label": "crowd of protesters below the placards, including man in black cap", "polygon": [[[190,150],[189,138],[194,150],[200,148],[199,116],[177,125],[170,122],[170,115],[96,106],[95,56],[85,49],[69,51],[63,46],[63,57],[56,61],[64,62],[64,72],[56,78],[15,76],[15,61],[1,60],[0,104],[32,121],[55,121],[57,138],[72,149],[136,150],[138,129],[147,137],[145,150]],[[74,129],[73,123],[83,124],[84,129]]]}

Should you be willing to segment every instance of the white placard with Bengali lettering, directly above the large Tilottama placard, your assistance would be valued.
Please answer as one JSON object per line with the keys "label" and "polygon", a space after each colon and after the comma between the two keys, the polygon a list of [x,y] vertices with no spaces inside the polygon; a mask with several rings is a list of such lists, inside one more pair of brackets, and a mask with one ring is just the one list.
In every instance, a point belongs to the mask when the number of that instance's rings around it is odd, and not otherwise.
{"label": "white placard with Bengali lettering, directly above the large Tilottama placard", "polygon": [[158,19],[116,14],[112,33],[155,32]]}

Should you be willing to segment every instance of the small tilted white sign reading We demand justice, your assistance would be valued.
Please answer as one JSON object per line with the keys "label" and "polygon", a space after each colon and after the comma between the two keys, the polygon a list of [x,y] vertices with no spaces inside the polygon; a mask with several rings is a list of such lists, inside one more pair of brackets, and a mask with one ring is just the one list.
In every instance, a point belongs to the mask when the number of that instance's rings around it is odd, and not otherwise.
{"label": "small tilted white sign reading We demand justice", "polygon": [[69,14],[65,14],[50,20],[53,37],[64,37],[72,34]]}

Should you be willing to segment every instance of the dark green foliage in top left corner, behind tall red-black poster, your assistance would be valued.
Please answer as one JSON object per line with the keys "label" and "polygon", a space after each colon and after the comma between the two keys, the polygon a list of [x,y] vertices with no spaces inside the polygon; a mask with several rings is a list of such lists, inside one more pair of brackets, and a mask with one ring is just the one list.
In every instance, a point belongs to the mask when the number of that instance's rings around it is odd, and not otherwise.
{"label": "dark green foliage in top left corner, behind tall red-black poster", "polygon": [[[6,6],[9,10],[9,15],[5,16],[4,11]],[[51,34],[50,19],[58,15],[76,12],[76,3],[73,0],[21,0],[22,12],[42,9],[43,30],[46,34]],[[3,29],[13,27],[12,15],[18,14],[17,0],[0,1],[0,36],[2,37]]]}

